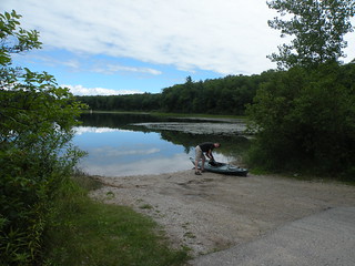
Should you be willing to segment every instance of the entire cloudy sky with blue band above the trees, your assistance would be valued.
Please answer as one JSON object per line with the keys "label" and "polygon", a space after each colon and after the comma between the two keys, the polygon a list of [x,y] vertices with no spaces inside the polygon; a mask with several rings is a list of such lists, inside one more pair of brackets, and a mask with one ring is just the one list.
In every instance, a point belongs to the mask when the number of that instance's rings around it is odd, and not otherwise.
{"label": "entire cloudy sky with blue band above the trees", "polygon": [[[267,25],[266,0],[1,0],[42,49],[13,63],[47,71],[74,95],[160,93],[193,81],[275,69],[285,43]],[[355,23],[353,23],[354,25]],[[355,58],[355,33],[345,50]]]}

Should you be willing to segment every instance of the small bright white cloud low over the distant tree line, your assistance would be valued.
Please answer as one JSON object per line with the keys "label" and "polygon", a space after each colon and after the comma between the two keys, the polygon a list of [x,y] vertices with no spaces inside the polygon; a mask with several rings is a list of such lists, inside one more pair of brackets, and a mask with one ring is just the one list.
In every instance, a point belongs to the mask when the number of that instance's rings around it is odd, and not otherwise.
{"label": "small bright white cloud low over the distant tree line", "polygon": [[123,94],[139,94],[141,91],[130,91],[130,90],[111,90],[104,88],[84,88],[82,85],[61,85],[68,88],[70,92],[74,95],[123,95]]}

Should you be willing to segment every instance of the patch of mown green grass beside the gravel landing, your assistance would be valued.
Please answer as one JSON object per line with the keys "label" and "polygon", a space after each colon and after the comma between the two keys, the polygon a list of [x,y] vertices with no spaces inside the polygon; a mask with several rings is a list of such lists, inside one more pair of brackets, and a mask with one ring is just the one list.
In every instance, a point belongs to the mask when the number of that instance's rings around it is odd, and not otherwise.
{"label": "patch of mown green grass beside the gravel landing", "polygon": [[166,266],[186,263],[187,250],[171,248],[163,231],[150,217],[125,206],[91,200],[88,188],[98,187],[98,183],[88,178],[81,176],[68,182],[55,201],[54,222],[47,231],[43,245],[44,265]]}

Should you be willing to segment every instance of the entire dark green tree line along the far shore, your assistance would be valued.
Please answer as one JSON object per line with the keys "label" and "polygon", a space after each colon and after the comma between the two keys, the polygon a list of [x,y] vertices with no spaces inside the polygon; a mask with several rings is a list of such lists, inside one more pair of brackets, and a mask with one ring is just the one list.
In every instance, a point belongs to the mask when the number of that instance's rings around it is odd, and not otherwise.
{"label": "entire dark green tree line along the far shore", "polygon": [[258,75],[227,75],[221,79],[175,84],[161,93],[111,96],[77,96],[91,110],[101,111],[161,111],[176,113],[207,113],[243,115],[252,103],[258,85],[272,79],[274,71]]}

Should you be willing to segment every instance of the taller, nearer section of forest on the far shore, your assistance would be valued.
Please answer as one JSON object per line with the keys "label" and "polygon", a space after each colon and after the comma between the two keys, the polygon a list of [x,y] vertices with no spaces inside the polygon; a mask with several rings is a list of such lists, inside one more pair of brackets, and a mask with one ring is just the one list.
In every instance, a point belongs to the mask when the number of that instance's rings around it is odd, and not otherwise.
{"label": "taller, nearer section of forest on the far shore", "polygon": [[255,95],[258,76],[232,76],[166,88],[162,92],[162,111],[183,113],[243,114]]}

